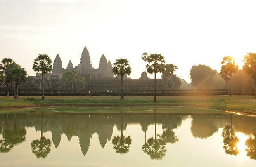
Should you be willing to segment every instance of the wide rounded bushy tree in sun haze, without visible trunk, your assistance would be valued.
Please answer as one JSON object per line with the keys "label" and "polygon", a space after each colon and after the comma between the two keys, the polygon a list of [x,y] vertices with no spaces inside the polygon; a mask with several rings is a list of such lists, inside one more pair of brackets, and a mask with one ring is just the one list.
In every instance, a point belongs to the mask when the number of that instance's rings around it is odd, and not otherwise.
{"label": "wide rounded bushy tree in sun haze, without visible trunk", "polygon": [[209,66],[199,64],[192,66],[190,70],[191,83],[197,89],[210,89],[212,86],[213,76],[217,71]]}

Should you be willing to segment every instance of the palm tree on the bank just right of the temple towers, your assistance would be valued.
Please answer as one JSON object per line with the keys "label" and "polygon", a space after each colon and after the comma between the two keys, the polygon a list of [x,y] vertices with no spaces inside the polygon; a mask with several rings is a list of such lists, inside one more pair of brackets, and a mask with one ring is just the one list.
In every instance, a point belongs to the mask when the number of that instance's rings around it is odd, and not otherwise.
{"label": "palm tree on the bank just right of the temple towers", "polygon": [[129,61],[127,59],[116,59],[116,62],[113,64],[114,67],[112,69],[114,75],[121,75],[121,100],[124,100],[123,97],[123,75],[130,75],[132,72],[130,68]]}

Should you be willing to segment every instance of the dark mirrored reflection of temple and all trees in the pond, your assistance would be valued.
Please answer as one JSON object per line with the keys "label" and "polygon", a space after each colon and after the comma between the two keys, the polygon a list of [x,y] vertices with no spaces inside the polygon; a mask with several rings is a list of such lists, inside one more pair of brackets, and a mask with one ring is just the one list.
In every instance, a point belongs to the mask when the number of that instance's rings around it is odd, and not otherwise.
{"label": "dark mirrored reflection of temple and all trees in the pond", "polygon": [[[238,155],[241,150],[237,147],[239,136],[237,132],[248,135],[243,143],[247,156],[256,159],[256,118],[241,117],[230,114],[206,114],[206,115],[181,115],[164,113],[113,113],[113,114],[88,114],[88,113],[4,113],[0,114],[0,153],[8,153],[15,146],[26,140],[26,128],[34,127],[41,132],[41,136],[31,142],[31,151],[37,158],[46,158],[50,153],[51,144],[58,148],[62,134],[68,141],[72,136],[77,136],[83,155],[88,153],[92,135],[97,133],[99,144],[102,148],[107,142],[111,142],[116,153],[125,154],[133,144],[133,136],[123,135],[127,125],[140,125],[145,132],[143,146],[141,148],[151,159],[161,159],[165,156],[166,144],[178,143],[180,137],[173,129],[177,129],[187,118],[192,118],[190,131],[194,138],[206,139],[214,133],[221,131],[223,138],[223,151],[226,154]],[[116,126],[120,133],[113,136],[113,127]],[[155,126],[154,136],[147,136],[149,125]],[[157,131],[156,125],[162,126],[162,131]],[[52,139],[47,139],[43,133],[50,131]],[[112,141],[111,141],[112,139]]]}

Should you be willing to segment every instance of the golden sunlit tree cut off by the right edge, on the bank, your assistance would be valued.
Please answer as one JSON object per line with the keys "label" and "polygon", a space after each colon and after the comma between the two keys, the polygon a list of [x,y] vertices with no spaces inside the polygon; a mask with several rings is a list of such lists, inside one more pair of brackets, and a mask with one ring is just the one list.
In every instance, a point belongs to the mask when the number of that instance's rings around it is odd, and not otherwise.
{"label": "golden sunlit tree cut off by the right edge, on the bank", "polygon": [[251,75],[252,86],[251,86],[251,96],[254,96],[254,80],[256,80],[256,53],[247,53],[244,56],[244,71]]}

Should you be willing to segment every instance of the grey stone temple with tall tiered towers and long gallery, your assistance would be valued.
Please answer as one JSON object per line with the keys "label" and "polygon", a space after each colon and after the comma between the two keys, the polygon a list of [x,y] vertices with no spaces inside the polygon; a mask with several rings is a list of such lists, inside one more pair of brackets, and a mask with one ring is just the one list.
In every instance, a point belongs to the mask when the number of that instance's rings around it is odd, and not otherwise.
{"label": "grey stone temple with tall tiered towers and long gallery", "polygon": [[[80,56],[80,63],[78,66],[73,66],[71,60],[66,68],[62,67],[62,60],[59,54],[56,55],[53,62],[52,73],[47,73],[44,79],[45,89],[63,89],[59,81],[66,71],[77,71],[79,77],[85,78],[85,85],[83,90],[91,92],[119,92],[121,89],[120,77],[114,77],[112,72],[112,64],[107,60],[106,56],[102,54],[99,60],[99,67],[97,69],[92,67],[90,54],[88,49],[84,47]],[[178,82],[176,75],[168,76],[168,80],[157,79],[157,89],[180,89],[181,82]],[[124,92],[134,92],[154,89],[154,79],[150,79],[146,72],[142,72],[139,79],[131,79],[126,75],[123,76]],[[41,87],[41,74],[36,76],[28,76],[29,87]]]}

